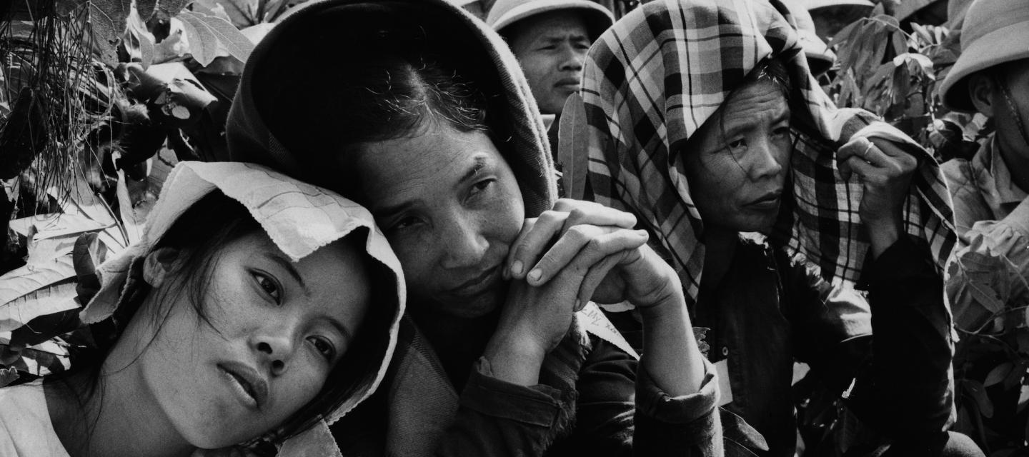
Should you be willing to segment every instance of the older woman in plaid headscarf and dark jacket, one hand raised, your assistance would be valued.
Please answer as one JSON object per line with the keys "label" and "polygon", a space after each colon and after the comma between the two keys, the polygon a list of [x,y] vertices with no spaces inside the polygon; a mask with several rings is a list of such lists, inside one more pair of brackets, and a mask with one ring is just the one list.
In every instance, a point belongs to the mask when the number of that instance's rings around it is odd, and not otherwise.
{"label": "older woman in plaid headscarf and dark jacket, one hand raised", "polygon": [[786,11],[655,1],[602,35],[583,82],[593,189],[677,268],[694,322],[711,328],[709,358],[726,366],[726,408],[769,455],[794,453],[794,359],[846,389],[890,452],[938,454],[964,438],[945,432],[946,186],[912,140],[832,106]]}

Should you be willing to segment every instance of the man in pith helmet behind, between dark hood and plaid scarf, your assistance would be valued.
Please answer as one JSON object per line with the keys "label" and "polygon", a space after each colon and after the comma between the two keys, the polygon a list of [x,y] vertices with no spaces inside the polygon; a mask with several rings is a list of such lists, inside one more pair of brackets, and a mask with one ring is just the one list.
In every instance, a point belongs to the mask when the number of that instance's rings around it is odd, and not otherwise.
{"label": "man in pith helmet behind, between dark hood and plaid scarf", "polygon": [[486,23],[504,37],[542,114],[578,92],[586,51],[614,16],[589,0],[497,0]]}

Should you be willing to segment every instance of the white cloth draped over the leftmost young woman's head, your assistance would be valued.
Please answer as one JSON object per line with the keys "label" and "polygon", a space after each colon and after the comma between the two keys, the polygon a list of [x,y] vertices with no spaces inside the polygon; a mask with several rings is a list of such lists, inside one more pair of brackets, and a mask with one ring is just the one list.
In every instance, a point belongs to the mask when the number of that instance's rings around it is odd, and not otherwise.
{"label": "white cloth draped over the leftmost young woman's head", "polygon": [[[262,166],[245,163],[180,163],[168,176],[161,198],[147,219],[140,241],[98,269],[101,288],[82,309],[84,323],[101,322],[131,293],[126,287],[134,263],[142,261],[161,237],[189,207],[208,194],[220,190],[249,211],[275,245],[297,261],[317,249],[348,235],[366,237],[364,250],[392,273],[395,302],[377,303],[392,306],[389,339],[375,373],[364,374],[356,391],[339,408],[322,413],[313,428],[282,443],[279,456],[339,455],[328,424],[371,395],[386,374],[396,346],[397,328],[403,314],[406,292],[400,262],[386,237],[376,226],[371,213],[339,195],[299,182]],[[364,230],[360,230],[364,228]],[[355,233],[355,231],[357,231]],[[359,234],[359,235],[358,235]],[[382,294],[381,296],[391,296]],[[277,443],[278,444],[278,443]]]}

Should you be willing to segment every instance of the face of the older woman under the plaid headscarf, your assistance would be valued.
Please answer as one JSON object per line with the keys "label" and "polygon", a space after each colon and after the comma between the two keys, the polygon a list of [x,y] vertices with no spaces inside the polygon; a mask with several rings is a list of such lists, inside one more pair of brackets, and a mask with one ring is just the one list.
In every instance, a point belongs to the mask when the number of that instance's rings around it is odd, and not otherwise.
{"label": "face of the older woman under the plaid headscarf", "polygon": [[707,230],[766,232],[779,213],[792,149],[786,99],[761,81],[719,109],[683,151],[694,204]]}

